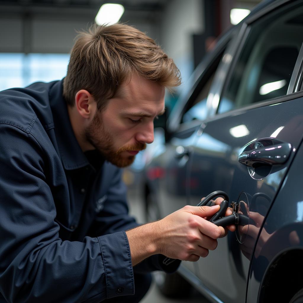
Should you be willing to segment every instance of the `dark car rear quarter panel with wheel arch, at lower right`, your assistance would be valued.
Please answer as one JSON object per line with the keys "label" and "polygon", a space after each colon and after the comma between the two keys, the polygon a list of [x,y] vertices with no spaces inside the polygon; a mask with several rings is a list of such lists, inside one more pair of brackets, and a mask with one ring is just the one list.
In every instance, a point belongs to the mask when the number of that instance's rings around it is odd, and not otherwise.
{"label": "dark car rear quarter panel with wheel arch, at lower right", "polygon": [[[263,224],[256,244],[261,250],[254,253],[251,261],[248,303],[258,302],[260,290],[266,285],[265,276],[271,267],[276,266],[275,261],[279,257],[292,250],[300,250],[303,255],[302,159],[303,149],[300,147]],[[275,232],[271,232],[272,230]],[[301,263],[298,261],[295,260],[295,266],[288,261],[289,275],[281,273],[283,275],[281,282],[275,285],[274,293],[277,292],[280,298],[282,294],[278,289],[280,287],[287,289],[286,281],[298,271],[302,271]],[[299,282],[302,287],[302,280]]]}

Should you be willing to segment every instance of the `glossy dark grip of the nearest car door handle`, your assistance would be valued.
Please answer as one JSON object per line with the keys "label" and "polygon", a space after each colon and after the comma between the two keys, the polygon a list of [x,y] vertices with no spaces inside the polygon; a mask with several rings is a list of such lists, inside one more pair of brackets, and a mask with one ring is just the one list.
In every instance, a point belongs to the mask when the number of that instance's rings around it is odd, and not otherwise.
{"label": "glossy dark grip of the nearest car door handle", "polygon": [[238,160],[241,164],[255,168],[259,165],[278,165],[285,163],[291,154],[289,143],[278,143],[244,151]]}

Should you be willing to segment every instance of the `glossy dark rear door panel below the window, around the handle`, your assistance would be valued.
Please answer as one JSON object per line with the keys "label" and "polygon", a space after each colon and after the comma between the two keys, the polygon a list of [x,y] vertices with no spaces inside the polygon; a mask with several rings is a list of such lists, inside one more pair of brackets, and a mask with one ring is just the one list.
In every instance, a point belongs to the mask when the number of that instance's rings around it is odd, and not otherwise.
{"label": "glossy dark rear door panel below the window, around the handle", "polygon": [[[298,98],[208,121],[193,145],[191,165],[188,166],[190,204],[198,204],[202,196],[215,190],[223,190],[231,201],[238,201],[244,191],[248,196],[248,211],[265,216],[295,152],[292,151],[284,165],[262,180],[253,179],[248,167],[238,162],[238,156],[247,143],[273,138],[279,129],[275,138],[290,143],[292,148],[298,148],[303,134],[302,102],[303,98]],[[232,130],[237,128],[238,134],[233,133]],[[255,193],[259,194],[258,198],[253,198]],[[253,249],[254,242],[251,245]],[[231,246],[236,248],[230,251]],[[238,254],[235,254],[235,249],[239,250]],[[198,276],[224,302],[245,300],[249,260],[240,253],[240,249],[236,238],[230,236],[220,239],[217,249],[198,261]],[[241,261],[235,260],[236,257],[240,257]],[[246,257],[249,256],[246,254]]]}

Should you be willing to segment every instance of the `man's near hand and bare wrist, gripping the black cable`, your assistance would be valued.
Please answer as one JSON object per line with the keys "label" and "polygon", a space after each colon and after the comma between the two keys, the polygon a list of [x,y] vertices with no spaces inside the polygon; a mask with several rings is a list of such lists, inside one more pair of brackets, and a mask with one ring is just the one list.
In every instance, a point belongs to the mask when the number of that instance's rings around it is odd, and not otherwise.
{"label": "man's near hand and bare wrist, gripping the black cable", "polygon": [[223,227],[205,219],[218,210],[219,205],[187,205],[159,221],[126,231],[132,265],[158,253],[186,261],[206,257],[217,247],[217,239],[225,235]]}

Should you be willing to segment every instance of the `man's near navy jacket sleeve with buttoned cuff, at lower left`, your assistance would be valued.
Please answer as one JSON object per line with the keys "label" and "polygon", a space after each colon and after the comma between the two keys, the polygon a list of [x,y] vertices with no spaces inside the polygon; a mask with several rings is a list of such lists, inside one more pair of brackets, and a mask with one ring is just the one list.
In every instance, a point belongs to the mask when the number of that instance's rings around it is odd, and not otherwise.
{"label": "man's near navy jacket sleeve with buttoned cuff, at lower left", "polygon": [[134,294],[124,231],[82,242],[59,238],[45,154],[30,133],[0,124],[0,301],[100,302]]}

